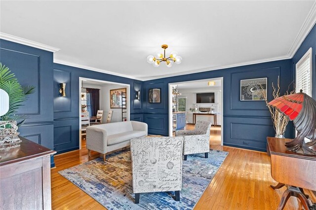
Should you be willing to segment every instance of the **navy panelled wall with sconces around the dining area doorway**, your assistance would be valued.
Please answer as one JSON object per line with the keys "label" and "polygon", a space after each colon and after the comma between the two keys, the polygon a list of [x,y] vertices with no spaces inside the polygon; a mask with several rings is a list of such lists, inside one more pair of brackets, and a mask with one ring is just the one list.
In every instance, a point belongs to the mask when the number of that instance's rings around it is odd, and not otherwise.
{"label": "navy panelled wall with sconces around the dining area doorway", "polygon": [[[143,121],[141,101],[135,100],[142,81],[61,64],[53,65],[54,150],[58,153],[79,148],[79,77],[130,85],[130,120]],[[66,83],[66,97],[59,96],[59,83]]]}

